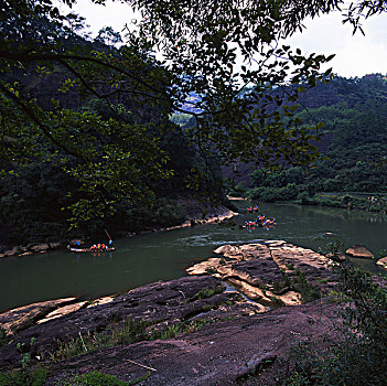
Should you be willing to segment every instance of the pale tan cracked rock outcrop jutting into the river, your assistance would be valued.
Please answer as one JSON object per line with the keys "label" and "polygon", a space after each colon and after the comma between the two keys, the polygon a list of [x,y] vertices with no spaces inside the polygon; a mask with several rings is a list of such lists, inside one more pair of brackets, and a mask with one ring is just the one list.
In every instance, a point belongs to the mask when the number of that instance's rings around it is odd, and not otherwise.
{"label": "pale tan cracked rock outcrop jutting into the river", "polygon": [[291,282],[297,280],[305,279],[323,292],[336,283],[331,271],[335,262],[314,250],[283,240],[225,245],[214,253],[222,254],[224,258],[198,262],[187,268],[187,274],[221,277],[264,307],[299,304],[301,296],[291,289]]}

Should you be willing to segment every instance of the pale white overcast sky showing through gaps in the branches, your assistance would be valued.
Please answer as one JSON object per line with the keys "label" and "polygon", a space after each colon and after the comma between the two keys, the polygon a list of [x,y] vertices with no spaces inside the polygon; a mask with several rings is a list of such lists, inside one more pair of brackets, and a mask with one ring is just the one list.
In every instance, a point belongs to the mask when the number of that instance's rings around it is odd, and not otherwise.
{"label": "pale white overcast sky showing through gaps in the branches", "polygon": [[[121,31],[125,23],[130,23],[135,18],[129,6],[111,0],[105,7],[96,6],[90,0],[78,0],[73,11],[86,18],[93,35],[104,26]],[[302,33],[295,33],[284,43],[301,49],[304,54],[336,54],[326,68],[333,67],[333,72],[340,76],[387,74],[387,14],[364,21],[365,36],[361,32],[353,35],[352,26],[342,24],[338,12],[308,19],[304,25]]]}

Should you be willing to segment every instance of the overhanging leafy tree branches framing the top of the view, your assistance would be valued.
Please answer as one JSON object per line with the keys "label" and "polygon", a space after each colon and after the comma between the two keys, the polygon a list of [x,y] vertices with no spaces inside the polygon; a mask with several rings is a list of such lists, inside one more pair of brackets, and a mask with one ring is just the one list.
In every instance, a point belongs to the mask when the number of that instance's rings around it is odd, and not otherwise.
{"label": "overhanging leafy tree branches framing the top of the view", "polygon": [[[122,196],[151,195],[148,182],[171,174],[160,139],[146,125],[104,120],[57,101],[47,106],[22,82],[32,73],[44,77],[55,72],[66,74],[61,92],[77,90],[110,106],[130,95],[139,106],[158,106],[164,118],[172,111],[191,114],[195,125],[186,135],[203,153],[216,151],[225,162],[252,160],[276,169],[307,167],[318,158],[311,140],[320,138],[320,126],[302,126],[293,116],[294,104],[305,89],[331,77],[331,71],[320,74],[320,67],[332,56],[304,56],[280,40],[302,29],[304,18],[340,9],[343,1],[127,2],[142,15],[137,29],[127,28],[119,49],[101,44],[105,35],[117,37],[103,31],[96,49],[82,32],[83,19],[62,15],[50,0],[6,0],[0,8],[6,170],[36,158],[57,162],[85,193],[72,207],[75,218],[103,216]],[[357,29],[362,15],[385,10],[385,1],[355,1],[345,18]],[[158,61],[154,50],[165,60]],[[201,98],[185,111],[192,93]],[[106,137],[114,144],[101,140]]]}

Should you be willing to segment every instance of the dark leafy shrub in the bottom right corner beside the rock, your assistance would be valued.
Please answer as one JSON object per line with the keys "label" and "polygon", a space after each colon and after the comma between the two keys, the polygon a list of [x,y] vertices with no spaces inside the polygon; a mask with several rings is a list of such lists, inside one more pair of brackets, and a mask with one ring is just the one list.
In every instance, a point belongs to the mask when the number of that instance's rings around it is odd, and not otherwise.
{"label": "dark leafy shrub in the bottom right corner beside the rock", "polygon": [[[293,347],[292,371],[281,385],[386,385],[387,289],[367,272],[340,267],[343,324],[335,340],[303,342]],[[350,303],[348,303],[350,302]]]}

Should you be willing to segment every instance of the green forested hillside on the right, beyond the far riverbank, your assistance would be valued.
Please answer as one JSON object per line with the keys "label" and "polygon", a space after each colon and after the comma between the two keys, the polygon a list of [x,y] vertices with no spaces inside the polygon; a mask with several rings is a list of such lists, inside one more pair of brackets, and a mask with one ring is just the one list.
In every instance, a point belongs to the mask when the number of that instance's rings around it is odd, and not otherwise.
{"label": "green forested hillside on the right, beyond the far riverbank", "polygon": [[[304,124],[324,122],[318,143],[321,157],[308,170],[282,168],[277,172],[255,169],[250,180],[239,176],[234,194],[252,200],[333,204],[346,196],[373,196],[387,190],[387,81],[381,75],[336,77],[302,95],[297,116]],[[316,193],[320,193],[316,195]],[[321,194],[326,193],[326,194]],[[362,200],[358,204],[361,205]],[[343,206],[338,201],[336,206]],[[350,204],[351,206],[351,204]]]}

